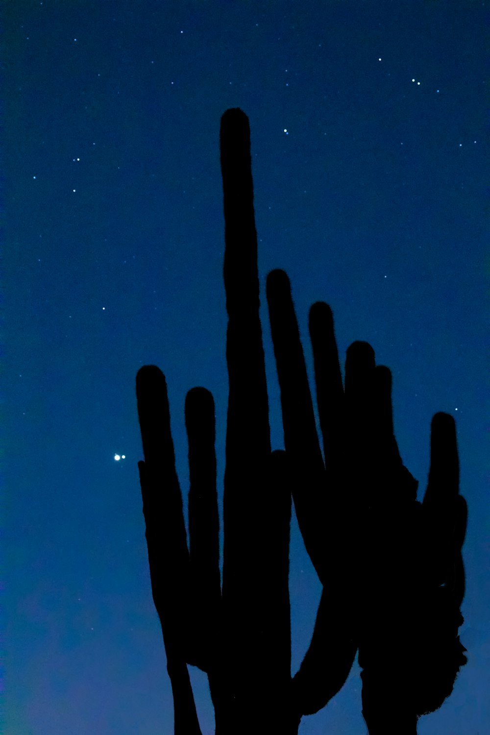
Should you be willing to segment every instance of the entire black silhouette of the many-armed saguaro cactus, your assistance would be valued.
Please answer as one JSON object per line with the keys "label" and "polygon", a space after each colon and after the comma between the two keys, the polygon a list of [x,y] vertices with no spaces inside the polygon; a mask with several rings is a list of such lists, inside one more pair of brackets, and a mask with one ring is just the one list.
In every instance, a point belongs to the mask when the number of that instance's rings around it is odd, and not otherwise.
{"label": "entire black silhouette of the many-armed saguaro cactus", "polygon": [[[286,452],[271,452],[250,131],[241,110],[223,115],[220,145],[229,376],[222,589],[212,395],[193,388],[185,404],[187,548],[165,376],[155,366],[137,374],[145,456],[138,467],[175,733],[200,733],[187,663],[208,674],[217,735],[287,735],[298,731],[303,714],[339,691],[358,646],[371,735],[414,733],[417,715],[440,706],[464,662],[456,634],[466,503],[458,495],[454,423],[447,415],[434,417],[429,486],[418,503],[417,481],[394,440],[389,370],[375,367],[370,345],[354,343],[344,390],[331,311],[314,304],[310,334],[324,459],[289,281],[273,271],[267,301]],[[324,586],[311,645],[293,679],[291,495]],[[426,664],[430,676],[424,678]]]}

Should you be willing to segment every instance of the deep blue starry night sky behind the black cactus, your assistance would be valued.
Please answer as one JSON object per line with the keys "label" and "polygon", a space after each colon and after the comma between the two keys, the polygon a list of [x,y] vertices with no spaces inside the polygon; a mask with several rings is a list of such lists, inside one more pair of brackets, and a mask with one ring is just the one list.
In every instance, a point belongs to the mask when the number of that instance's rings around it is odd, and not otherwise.
{"label": "deep blue starry night sky behind the black cactus", "polygon": [[[284,446],[273,268],[291,279],[310,378],[318,300],[333,309],[342,363],[367,340],[392,369],[419,500],[430,419],[455,417],[468,664],[418,731],[488,733],[485,3],[7,0],[3,14],[5,734],[173,733],[135,376],[155,364],[167,377],[185,512],[184,399],[211,390],[221,512],[229,107],[251,125],[273,448]],[[291,533],[295,673],[320,582],[294,514]],[[367,732],[359,673],[356,659],[300,735]],[[191,678],[210,735],[207,678]]]}

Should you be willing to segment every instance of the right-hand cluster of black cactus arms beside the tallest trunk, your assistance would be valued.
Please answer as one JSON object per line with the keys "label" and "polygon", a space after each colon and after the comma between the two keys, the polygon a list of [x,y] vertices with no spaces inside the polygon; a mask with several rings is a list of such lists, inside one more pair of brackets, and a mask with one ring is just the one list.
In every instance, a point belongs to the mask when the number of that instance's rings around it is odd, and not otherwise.
{"label": "right-hand cluster of black cactus arms beside the tallest trunk", "polygon": [[292,497],[324,586],[293,698],[303,714],[325,706],[335,693],[331,662],[338,657],[342,665],[353,639],[370,735],[413,735],[418,717],[442,705],[466,663],[458,637],[466,501],[458,495],[453,417],[433,417],[420,503],[393,434],[389,369],[375,366],[370,345],[353,343],[344,391],[331,309],[317,302],[309,331],[323,459],[286,273],[269,274],[267,298]]}

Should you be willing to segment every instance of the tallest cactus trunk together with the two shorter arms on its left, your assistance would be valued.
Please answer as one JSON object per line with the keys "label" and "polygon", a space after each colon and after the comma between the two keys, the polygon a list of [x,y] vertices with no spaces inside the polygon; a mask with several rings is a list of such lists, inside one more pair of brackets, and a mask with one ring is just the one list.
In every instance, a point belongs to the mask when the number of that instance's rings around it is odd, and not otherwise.
{"label": "tallest cactus trunk together with the two shorter arms on its left", "polygon": [[298,730],[290,686],[289,520],[284,452],[270,451],[259,321],[250,138],[242,113],[224,115],[229,373],[223,593],[218,565],[214,407],[203,388],[186,400],[190,553],[175,473],[165,379],[137,375],[145,462],[140,462],[148,558],[173,686],[176,734],[198,732],[186,661],[209,675],[216,732]]}

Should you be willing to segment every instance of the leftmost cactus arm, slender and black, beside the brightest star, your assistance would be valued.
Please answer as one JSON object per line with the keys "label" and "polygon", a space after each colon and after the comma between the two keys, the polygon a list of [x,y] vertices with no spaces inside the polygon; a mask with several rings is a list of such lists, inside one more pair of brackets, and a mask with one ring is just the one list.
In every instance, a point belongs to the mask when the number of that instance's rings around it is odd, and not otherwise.
{"label": "leftmost cactus arm, slender and black, beside the brightest star", "polygon": [[170,434],[165,376],[145,365],[136,378],[144,462],[138,462],[151,591],[162,625],[173,691],[175,735],[201,735],[186,665],[190,601],[189,551],[175,453]]}

